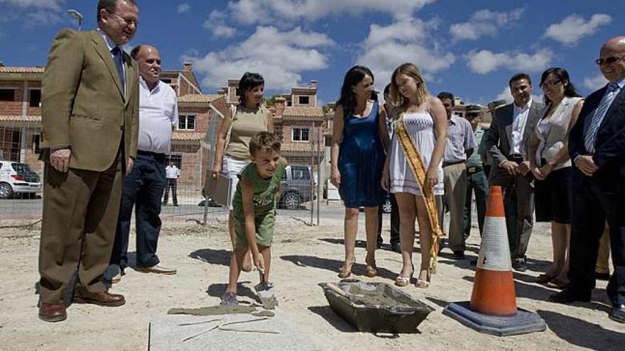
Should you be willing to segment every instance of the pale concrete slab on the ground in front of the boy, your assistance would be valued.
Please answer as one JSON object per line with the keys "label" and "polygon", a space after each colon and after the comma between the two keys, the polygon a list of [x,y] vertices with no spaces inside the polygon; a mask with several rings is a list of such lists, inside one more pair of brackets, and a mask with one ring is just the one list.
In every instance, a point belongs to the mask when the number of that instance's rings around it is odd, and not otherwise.
{"label": "pale concrete slab on the ground in front of the boy", "polygon": [[[214,328],[222,323],[258,320],[260,317],[250,314],[225,316],[189,316],[168,315],[155,316],[150,323],[148,351],[199,351],[199,350],[254,350],[254,351],[312,351],[322,350],[302,333],[295,329],[293,321],[279,310],[273,310],[275,317],[250,323],[229,324],[220,330]],[[219,321],[215,321],[219,320]],[[208,323],[201,323],[212,321]],[[197,324],[199,323],[199,324]],[[190,324],[190,325],[184,325]],[[213,330],[210,330],[214,328]],[[210,330],[207,332],[207,330]],[[246,330],[246,331],[242,331]],[[277,331],[275,333],[255,333],[249,330]],[[207,333],[204,333],[207,332]],[[203,333],[203,334],[202,334]],[[202,335],[199,335],[202,334]],[[194,335],[190,340],[183,341]]]}

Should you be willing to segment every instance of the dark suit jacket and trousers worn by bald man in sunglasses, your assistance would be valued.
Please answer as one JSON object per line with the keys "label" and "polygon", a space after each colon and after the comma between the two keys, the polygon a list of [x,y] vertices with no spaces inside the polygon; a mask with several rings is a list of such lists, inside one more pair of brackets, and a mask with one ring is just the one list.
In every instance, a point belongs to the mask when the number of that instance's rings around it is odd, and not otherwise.
{"label": "dark suit jacket and trousers worn by bald man in sunglasses", "polygon": [[[606,89],[594,91],[585,101],[569,135],[571,160],[589,155],[584,144],[587,120],[592,118]],[[592,177],[573,167],[568,289],[580,296],[590,296],[594,289],[594,265],[607,219],[614,264],[607,294],[612,303],[622,304],[625,303],[625,88],[616,95],[599,126],[592,159],[599,167]]]}

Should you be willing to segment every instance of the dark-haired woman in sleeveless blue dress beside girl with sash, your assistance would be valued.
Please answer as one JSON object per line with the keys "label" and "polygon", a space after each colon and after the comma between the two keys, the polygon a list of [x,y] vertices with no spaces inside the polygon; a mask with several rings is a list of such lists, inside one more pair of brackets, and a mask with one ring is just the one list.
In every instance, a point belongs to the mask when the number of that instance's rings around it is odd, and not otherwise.
{"label": "dark-haired woman in sleeveless blue dress beside girl with sash", "polygon": [[332,127],[330,182],[339,188],[345,205],[345,260],[339,277],[352,274],[358,231],[358,208],[364,206],[367,277],[378,273],[375,260],[378,206],[385,191],[380,179],[384,167],[388,133],[386,113],[377,101],[374,75],[366,67],[354,66],[343,80]]}

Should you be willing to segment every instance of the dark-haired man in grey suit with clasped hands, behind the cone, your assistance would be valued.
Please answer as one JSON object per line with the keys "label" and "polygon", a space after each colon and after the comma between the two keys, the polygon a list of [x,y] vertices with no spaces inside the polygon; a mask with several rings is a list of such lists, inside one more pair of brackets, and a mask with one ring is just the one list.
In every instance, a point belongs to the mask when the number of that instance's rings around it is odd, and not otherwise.
{"label": "dark-haired man in grey suit with clasped hands, behind the cone", "polygon": [[493,159],[489,184],[504,190],[504,209],[512,267],[523,272],[533,227],[534,188],[529,172],[528,141],[536,127],[543,104],[532,100],[528,74],[515,74],[509,81],[513,104],[494,113],[484,143]]}

